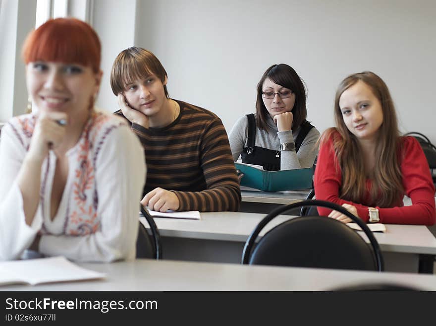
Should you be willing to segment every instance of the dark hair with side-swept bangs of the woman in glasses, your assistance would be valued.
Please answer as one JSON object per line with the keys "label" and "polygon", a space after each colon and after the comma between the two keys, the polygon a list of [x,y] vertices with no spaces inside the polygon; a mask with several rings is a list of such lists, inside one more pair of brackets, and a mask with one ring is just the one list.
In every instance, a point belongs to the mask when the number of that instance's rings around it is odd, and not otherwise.
{"label": "dark hair with side-swept bangs of the woman in glasses", "polygon": [[304,121],[306,121],[306,88],[304,87],[303,80],[298,76],[297,72],[290,65],[286,64],[272,65],[269,67],[257,84],[256,126],[259,129],[269,131],[267,125],[269,113],[262,99],[262,87],[267,78],[270,78],[274,83],[282,87],[290,89],[295,94],[295,104],[292,109],[292,114],[294,116],[292,129],[297,129]]}

